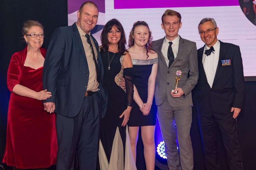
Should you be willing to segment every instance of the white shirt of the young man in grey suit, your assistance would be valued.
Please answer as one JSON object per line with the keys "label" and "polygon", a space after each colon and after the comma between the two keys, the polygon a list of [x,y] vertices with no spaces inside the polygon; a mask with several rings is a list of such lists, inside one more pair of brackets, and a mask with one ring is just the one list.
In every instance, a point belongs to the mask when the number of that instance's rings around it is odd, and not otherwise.
{"label": "white shirt of the young man in grey suit", "polygon": [[[162,54],[164,56],[164,59],[166,61],[166,64],[167,66],[169,65],[169,59],[167,57],[167,53],[168,53],[168,47],[169,47],[169,40],[164,37],[164,43],[163,43],[163,46],[162,46]],[[174,54],[174,59],[177,57],[177,54],[178,54],[178,49],[179,49],[179,35],[177,38],[175,38],[173,41],[172,41],[172,50],[173,50],[173,54]]]}

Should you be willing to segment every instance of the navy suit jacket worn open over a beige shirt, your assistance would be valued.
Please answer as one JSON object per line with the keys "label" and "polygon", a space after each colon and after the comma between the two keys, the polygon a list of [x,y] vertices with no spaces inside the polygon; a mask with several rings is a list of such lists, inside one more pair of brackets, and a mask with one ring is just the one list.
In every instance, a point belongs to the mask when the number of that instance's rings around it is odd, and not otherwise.
{"label": "navy suit jacket worn open over a beige shirt", "polygon": [[[98,65],[101,73],[99,93],[101,96],[101,115],[107,108],[107,91],[103,82],[103,64],[99,53],[99,45],[92,36],[98,50]],[[56,103],[57,114],[75,117],[81,110],[89,80],[89,69],[82,40],[76,23],[72,26],[56,28],[47,49],[43,87],[52,96],[43,102]]]}

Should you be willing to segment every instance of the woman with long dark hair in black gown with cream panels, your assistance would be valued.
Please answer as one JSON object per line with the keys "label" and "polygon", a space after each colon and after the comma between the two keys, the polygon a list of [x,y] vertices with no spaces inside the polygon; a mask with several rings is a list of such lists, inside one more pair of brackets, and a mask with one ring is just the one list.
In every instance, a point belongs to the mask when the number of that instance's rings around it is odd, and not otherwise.
{"label": "woman with long dark hair in black gown with cream panels", "polygon": [[[127,127],[133,101],[133,68],[131,56],[125,49],[124,30],[118,20],[111,19],[106,23],[101,42],[108,108],[101,119],[98,169],[134,170],[136,166]],[[119,86],[123,77],[126,89]]]}

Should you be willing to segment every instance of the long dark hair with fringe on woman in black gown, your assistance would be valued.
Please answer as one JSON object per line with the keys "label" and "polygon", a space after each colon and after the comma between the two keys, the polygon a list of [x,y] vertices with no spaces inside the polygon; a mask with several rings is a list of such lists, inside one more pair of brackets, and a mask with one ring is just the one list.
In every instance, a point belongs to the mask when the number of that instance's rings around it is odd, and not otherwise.
{"label": "long dark hair with fringe on woman in black gown", "polygon": [[100,39],[101,39],[101,51],[105,52],[108,51],[109,49],[109,41],[108,41],[108,33],[109,31],[116,26],[117,29],[119,29],[119,31],[121,32],[121,37],[120,40],[118,41],[118,53],[123,55],[126,50],[125,46],[126,46],[126,39],[125,39],[125,33],[124,33],[124,28],[122,26],[122,24],[117,20],[117,19],[111,19],[109,20],[106,25],[104,26],[101,35],[100,35]]}

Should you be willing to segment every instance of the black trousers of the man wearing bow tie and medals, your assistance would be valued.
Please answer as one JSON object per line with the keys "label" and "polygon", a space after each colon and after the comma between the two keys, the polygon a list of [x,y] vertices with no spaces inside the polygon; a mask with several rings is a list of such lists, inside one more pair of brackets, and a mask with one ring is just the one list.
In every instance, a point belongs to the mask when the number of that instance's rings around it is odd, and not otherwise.
{"label": "black trousers of the man wearing bow tie and medals", "polygon": [[231,170],[243,169],[242,156],[237,141],[237,120],[233,113],[209,113],[197,111],[198,123],[203,142],[205,165],[207,170],[220,169],[217,149],[217,126],[220,128],[227,160]]}

